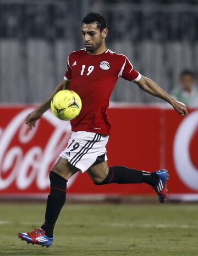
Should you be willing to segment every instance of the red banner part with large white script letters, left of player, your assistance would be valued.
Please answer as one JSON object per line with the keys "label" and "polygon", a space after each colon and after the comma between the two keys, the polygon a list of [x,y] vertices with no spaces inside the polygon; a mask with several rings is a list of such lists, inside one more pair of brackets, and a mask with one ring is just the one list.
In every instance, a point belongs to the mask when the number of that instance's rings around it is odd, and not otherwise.
{"label": "red banner part with large white script letters, left of player", "polygon": [[29,130],[24,120],[34,108],[1,108],[1,194],[47,193],[48,172],[67,145],[70,124],[47,111]]}

